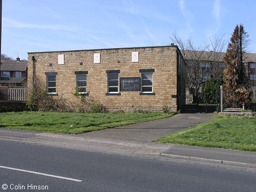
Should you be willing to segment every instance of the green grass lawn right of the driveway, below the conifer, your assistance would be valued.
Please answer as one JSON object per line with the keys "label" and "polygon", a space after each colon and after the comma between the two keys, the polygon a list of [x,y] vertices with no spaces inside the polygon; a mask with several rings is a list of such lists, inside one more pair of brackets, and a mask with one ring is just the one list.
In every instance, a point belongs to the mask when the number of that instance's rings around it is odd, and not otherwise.
{"label": "green grass lawn right of the driveway, below the conifer", "polygon": [[155,140],[163,143],[256,151],[256,118],[221,117]]}

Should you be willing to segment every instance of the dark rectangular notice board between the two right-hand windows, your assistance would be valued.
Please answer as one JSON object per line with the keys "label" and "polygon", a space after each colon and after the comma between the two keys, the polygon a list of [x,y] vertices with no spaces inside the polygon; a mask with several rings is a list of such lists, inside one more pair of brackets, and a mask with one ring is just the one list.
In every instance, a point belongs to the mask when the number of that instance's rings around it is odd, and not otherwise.
{"label": "dark rectangular notice board between the two right-hand windows", "polygon": [[140,77],[120,77],[120,91],[140,91]]}

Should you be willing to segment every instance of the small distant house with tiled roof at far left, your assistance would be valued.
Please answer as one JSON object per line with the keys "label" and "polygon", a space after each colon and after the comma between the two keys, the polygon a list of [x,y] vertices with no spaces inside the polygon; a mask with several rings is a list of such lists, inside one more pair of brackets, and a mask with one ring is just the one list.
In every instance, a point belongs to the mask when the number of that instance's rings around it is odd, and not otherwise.
{"label": "small distant house with tiled roof at far left", "polygon": [[0,86],[17,87],[27,83],[28,61],[15,60],[1,61]]}

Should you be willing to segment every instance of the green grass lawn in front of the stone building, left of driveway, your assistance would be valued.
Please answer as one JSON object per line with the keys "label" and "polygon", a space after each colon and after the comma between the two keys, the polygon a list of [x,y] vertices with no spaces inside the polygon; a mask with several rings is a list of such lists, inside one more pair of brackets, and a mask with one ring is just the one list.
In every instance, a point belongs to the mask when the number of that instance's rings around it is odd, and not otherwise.
{"label": "green grass lawn in front of the stone building, left of driveway", "polygon": [[52,133],[83,133],[171,117],[163,113],[59,113],[43,111],[0,114],[0,127]]}

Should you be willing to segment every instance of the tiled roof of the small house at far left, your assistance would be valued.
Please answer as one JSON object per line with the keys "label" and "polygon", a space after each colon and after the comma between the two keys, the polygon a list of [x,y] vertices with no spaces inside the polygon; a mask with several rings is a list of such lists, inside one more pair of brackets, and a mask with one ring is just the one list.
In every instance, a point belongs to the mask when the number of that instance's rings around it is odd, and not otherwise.
{"label": "tiled roof of the small house at far left", "polygon": [[26,71],[28,68],[28,61],[1,61],[1,71]]}

